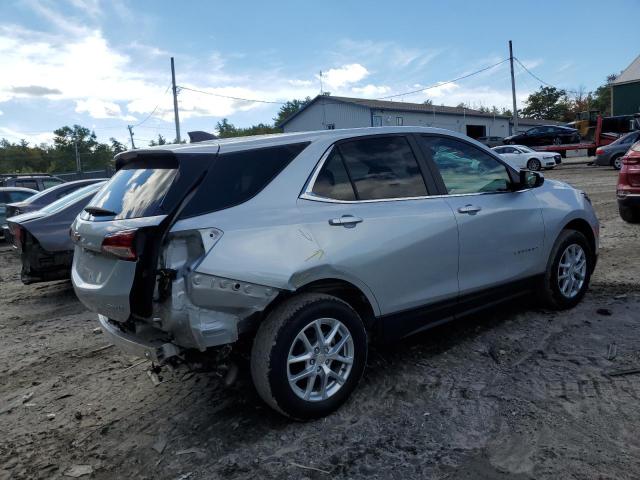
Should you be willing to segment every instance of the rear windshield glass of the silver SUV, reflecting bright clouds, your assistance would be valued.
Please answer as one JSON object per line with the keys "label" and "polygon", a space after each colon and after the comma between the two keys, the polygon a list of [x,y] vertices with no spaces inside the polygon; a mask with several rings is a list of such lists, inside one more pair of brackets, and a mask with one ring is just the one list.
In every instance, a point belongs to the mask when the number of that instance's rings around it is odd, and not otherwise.
{"label": "rear windshield glass of the silver SUV, reflecting bright clouds", "polygon": [[89,206],[113,212],[115,220],[166,214],[160,206],[177,173],[175,161],[133,161],[111,177]]}

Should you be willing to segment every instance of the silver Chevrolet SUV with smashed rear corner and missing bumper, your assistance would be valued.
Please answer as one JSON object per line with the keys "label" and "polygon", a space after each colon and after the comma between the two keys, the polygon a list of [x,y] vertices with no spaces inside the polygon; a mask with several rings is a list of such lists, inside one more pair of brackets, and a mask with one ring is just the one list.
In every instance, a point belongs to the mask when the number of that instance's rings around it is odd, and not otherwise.
{"label": "silver Chevrolet SUV with smashed rear corner and missing bumper", "polygon": [[157,364],[252,340],[271,407],[326,415],[370,338],[394,340],[518,295],[576,305],[598,220],[571,186],[447,130],[331,130],[163,145],[72,226],[80,300]]}

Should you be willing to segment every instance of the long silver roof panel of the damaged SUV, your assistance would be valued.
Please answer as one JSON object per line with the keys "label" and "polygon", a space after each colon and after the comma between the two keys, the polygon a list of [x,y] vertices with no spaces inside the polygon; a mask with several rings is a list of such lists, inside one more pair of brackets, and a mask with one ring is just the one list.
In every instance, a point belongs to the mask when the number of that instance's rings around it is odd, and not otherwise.
{"label": "long silver roof panel of the damaged SUV", "polygon": [[269,135],[254,135],[247,137],[233,137],[224,139],[207,140],[204,142],[189,144],[172,144],[148,147],[138,150],[127,150],[116,156],[118,159],[128,160],[139,154],[148,153],[225,153],[248,148],[264,148],[290,143],[315,142],[319,140],[338,141],[346,138],[361,137],[366,135],[385,135],[393,133],[431,133],[458,137],[469,141],[466,135],[453,130],[431,127],[365,127],[344,128],[336,130],[314,130],[309,132],[275,133]]}

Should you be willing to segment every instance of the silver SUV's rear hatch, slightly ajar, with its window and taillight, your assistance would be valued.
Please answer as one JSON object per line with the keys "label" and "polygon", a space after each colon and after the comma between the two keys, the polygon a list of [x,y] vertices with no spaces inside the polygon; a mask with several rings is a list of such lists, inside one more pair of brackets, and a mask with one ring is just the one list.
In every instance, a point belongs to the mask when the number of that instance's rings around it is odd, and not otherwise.
{"label": "silver SUV's rear hatch, slightly ajar, with its window and taillight", "polygon": [[113,320],[149,318],[160,247],[217,154],[133,151],[71,228],[73,285],[84,305]]}

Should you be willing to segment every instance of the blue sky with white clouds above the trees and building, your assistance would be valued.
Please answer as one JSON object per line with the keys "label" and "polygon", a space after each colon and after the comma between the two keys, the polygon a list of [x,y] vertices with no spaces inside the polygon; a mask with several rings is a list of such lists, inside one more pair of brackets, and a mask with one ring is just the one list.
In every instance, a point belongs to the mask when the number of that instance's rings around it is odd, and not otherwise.
{"label": "blue sky with white clouds above the trees and building", "polygon": [[[49,141],[62,125],[101,140],[173,138],[177,83],[282,102],[379,98],[444,82],[514,55],[546,82],[593,90],[640,54],[640,0],[212,2],[4,0],[0,138]],[[518,105],[540,82],[516,68]],[[508,63],[407,102],[511,107]],[[183,132],[271,122],[278,105],[182,90]],[[155,109],[155,111],[154,111]],[[149,116],[149,114],[153,114]],[[147,118],[148,117],[148,118]],[[146,119],[146,120],[145,120]]]}

